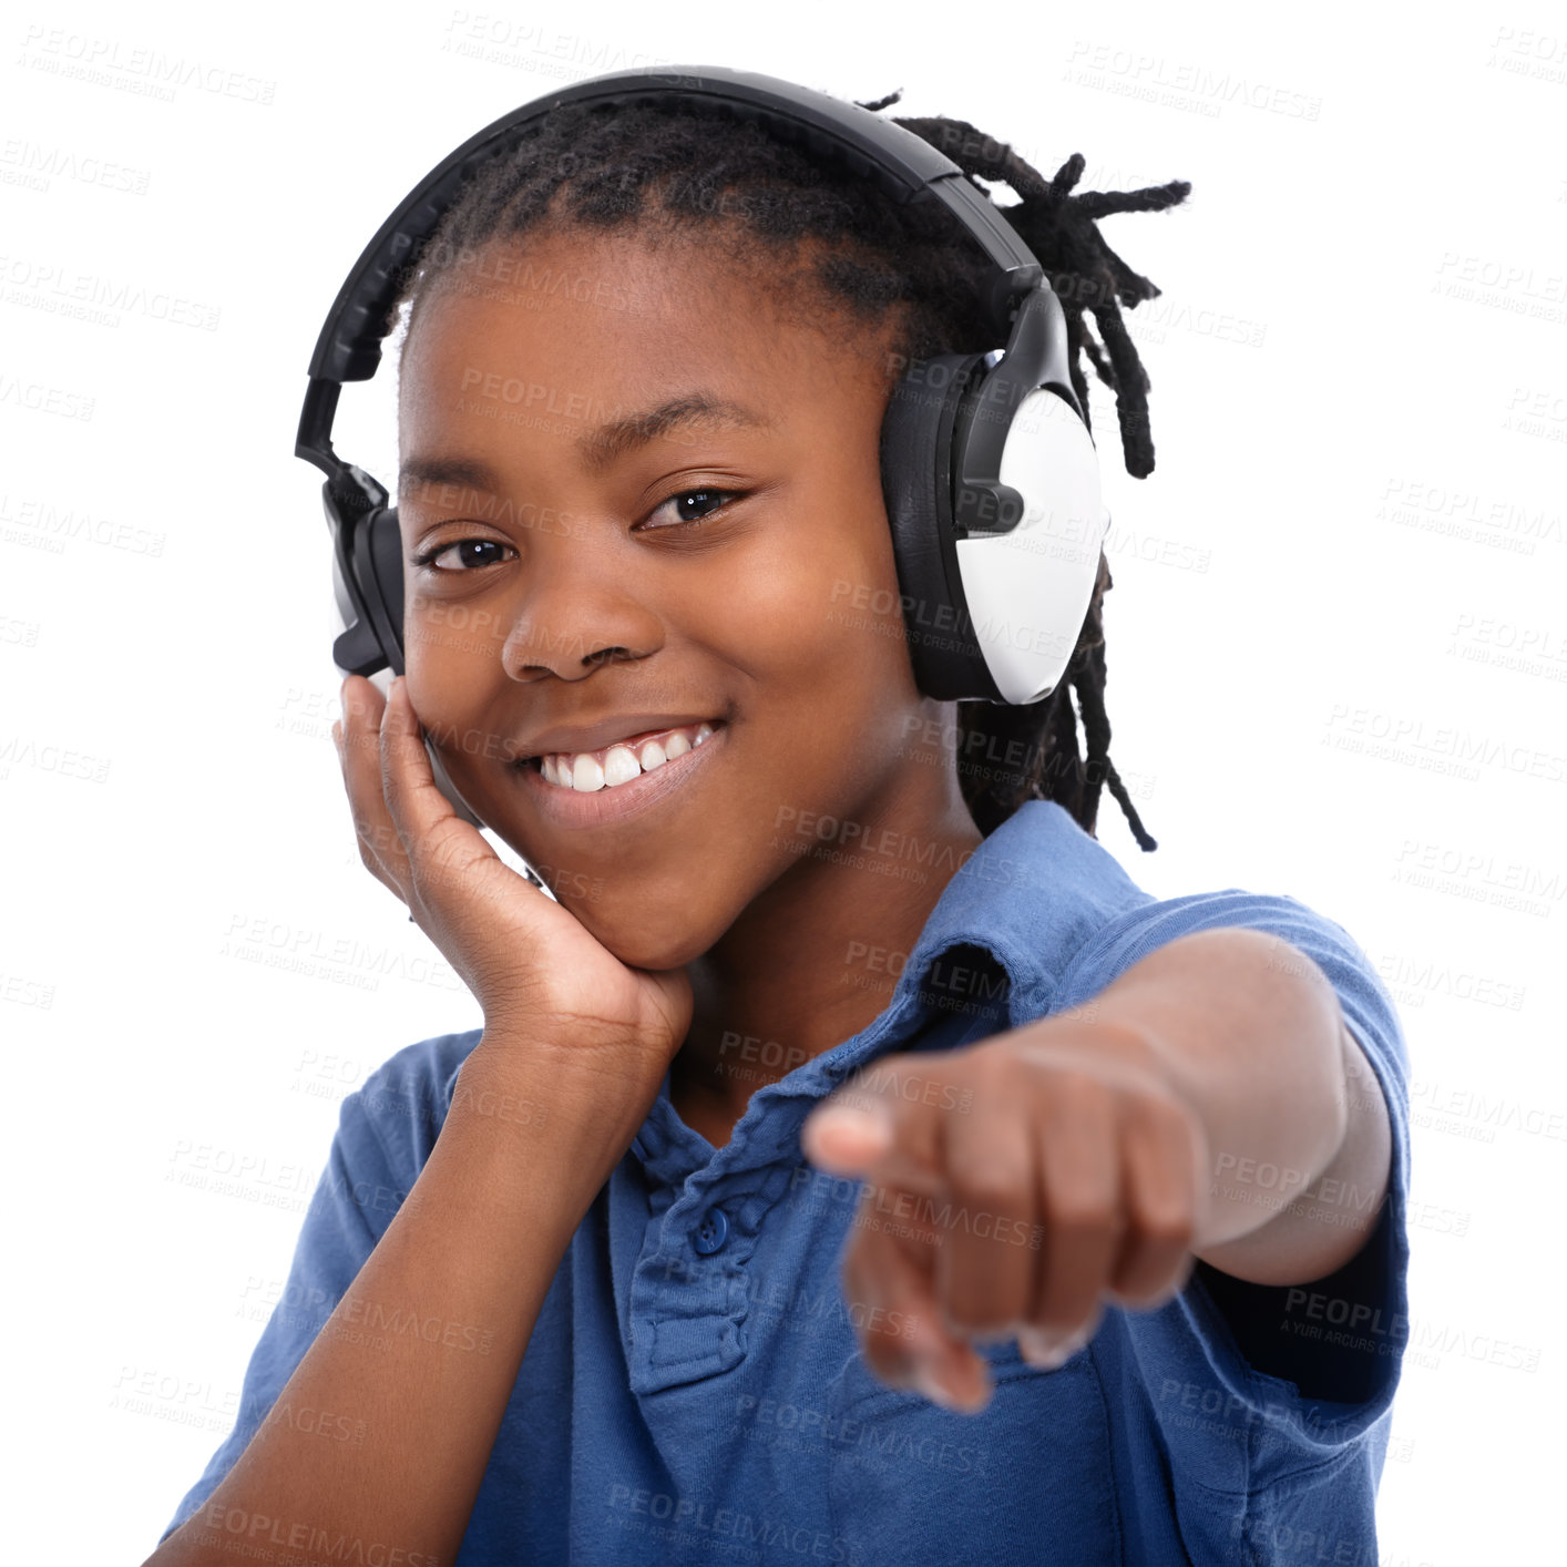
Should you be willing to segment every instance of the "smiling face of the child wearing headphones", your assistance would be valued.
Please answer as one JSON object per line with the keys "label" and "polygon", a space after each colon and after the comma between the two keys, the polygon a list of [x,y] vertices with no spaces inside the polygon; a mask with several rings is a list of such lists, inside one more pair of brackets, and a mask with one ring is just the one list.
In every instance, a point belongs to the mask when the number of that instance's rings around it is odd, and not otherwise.
{"label": "smiling face of the child wearing headphones", "polygon": [[[920,696],[903,636],[885,356],[768,298],[711,237],[556,233],[443,280],[401,362],[414,710],[484,823],[644,968],[707,951],[790,867],[821,874],[812,846],[934,827],[951,787],[912,760],[953,710]],[[675,398],[740,412],[594,440]],[[693,490],[735,497],[675,501]],[[561,726],[608,722],[597,749],[664,715],[722,724],[624,818],[605,788],[564,804],[606,820],[567,820],[519,760],[575,749],[537,743]]]}

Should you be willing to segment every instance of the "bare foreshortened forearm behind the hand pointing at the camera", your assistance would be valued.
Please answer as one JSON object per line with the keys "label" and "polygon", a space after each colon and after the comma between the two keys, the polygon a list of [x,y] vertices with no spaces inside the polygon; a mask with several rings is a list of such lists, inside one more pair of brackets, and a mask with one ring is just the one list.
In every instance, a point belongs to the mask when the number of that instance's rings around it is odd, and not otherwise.
{"label": "bare foreshortened forearm behind the hand pointing at the camera", "polygon": [[1145,1051],[1202,1122],[1197,1257],[1239,1279],[1301,1283],[1359,1250],[1387,1189],[1387,1113],[1305,954],[1257,931],[1194,932],[1128,968],[1094,1015],[1106,1037]]}

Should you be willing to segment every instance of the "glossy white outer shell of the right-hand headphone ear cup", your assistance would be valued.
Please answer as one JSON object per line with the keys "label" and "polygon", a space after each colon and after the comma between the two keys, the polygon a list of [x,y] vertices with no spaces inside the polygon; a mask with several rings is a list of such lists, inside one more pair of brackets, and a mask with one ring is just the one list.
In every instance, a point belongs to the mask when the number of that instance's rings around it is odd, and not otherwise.
{"label": "glossy white outer shell of the right-hand headphone ear cup", "polygon": [[997,689],[1026,707],[1055,691],[1077,646],[1109,512],[1087,429],[1045,387],[1019,404],[998,476],[1023,497],[1023,516],[1011,533],[959,539],[957,569]]}

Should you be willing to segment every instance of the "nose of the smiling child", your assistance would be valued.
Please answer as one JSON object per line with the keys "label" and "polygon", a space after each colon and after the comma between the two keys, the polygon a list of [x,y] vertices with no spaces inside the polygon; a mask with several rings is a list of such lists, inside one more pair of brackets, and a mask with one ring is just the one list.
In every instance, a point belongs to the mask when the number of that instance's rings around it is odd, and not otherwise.
{"label": "nose of the smiling child", "polygon": [[600,664],[646,658],[663,638],[658,616],[635,588],[635,561],[616,561],[584,537],[555,541],[523,569],[516,616],[501,647],[512,680],[553,674],[583,680]]}

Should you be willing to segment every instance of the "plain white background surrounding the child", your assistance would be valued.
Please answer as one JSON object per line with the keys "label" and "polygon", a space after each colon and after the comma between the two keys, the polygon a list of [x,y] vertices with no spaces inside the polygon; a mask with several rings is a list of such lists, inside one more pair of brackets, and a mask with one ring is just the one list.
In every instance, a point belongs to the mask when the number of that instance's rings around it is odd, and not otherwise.
{"label": "plain white background surrounding the child", "polygon": [[[1080,190],[1192,182],[1103,223],[1163,288],[1130,317],[1152,478],[1094,403],[1113,755],[1160,849],[1108,796],[1100,835],[1160,896],[1291,893],[1384,973],[1420,1122],[1384,1561],[1553,1537],[1567,24],[1196,11],[11,13],[0,1031],[11,1429],[38,1454],[17,1561],[74,1556],[88,1515],[94,1559],[150,1551],[229,1429],[337,1102],[480,1023],[353,846],[320,483],[291,454],[304,371],[431,165],[559,81],[660,63],[904,88],[893,113],[968,119],[1047,174],[1081,150]],[[186,85],[139,91],[149,56]],[[72,318],[78,287],[163,304]],[[338,448],[385,478],[381,382]],[[257,929],[359,946],[328,981],[226,954]],[[238,1197],[215,1189],[237,1169]]]}

